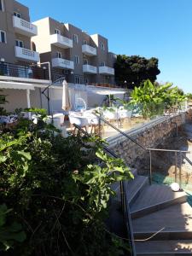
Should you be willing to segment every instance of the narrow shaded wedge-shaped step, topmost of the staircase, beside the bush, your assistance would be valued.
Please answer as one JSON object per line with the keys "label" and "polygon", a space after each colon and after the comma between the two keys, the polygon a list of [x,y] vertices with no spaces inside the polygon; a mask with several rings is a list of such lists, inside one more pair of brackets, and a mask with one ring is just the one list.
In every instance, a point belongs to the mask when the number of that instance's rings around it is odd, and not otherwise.
{"label": "narrow shaded wedge-shaped step, topmost of the staircase, beside the bush", "polygon": [[125,195],[130,207],[146,186],[148,186],[148,177],[141,175],[137,175],[133,180],[125,183]]}

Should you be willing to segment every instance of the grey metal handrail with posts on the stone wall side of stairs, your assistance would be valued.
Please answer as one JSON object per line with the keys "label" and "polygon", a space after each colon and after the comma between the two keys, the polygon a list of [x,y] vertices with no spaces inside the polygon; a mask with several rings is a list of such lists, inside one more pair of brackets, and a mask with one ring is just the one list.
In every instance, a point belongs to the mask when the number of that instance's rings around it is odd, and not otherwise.
{"label": "grey metal handrail with posts on the stone wall side of stairs", "polygon": [[[175,181],[177,181],[177,154],[179,154],[179,159],[180,159],[180,165],[179,165],[179,185],[180,188],[182,186],[182,156],[183,153],[188,154],[190,151],[184,151],[184,150],[174,150],[174,149],[166,149],[166,148],[145,148],[141,143],[137,143],[136,140],[134,140],[132,137],[128,136],[124,131],[120,131],[119,128],[115,127],[114,125],[110,124],[106,119],[103,119],[101,114],[98,115],[97,113],[93,113],[96,115],[96,117],[107,125],[111,126],[115,131],[118,131],[120,134],[122,134],[124,137],[128,138],[131,140],[131,142],[136,143],[137,146],[140,148],[143,148],[144,150],[148,151],[149,153],[149,183],[152,184],[152,154],[151,151],[162,151],[162,152],[174,152],[175,153]],[[186,158],[185,158],[186,159]],[[186,160],[189,160],[188,158]],[[192,162],[191,162],[192,164]]]}

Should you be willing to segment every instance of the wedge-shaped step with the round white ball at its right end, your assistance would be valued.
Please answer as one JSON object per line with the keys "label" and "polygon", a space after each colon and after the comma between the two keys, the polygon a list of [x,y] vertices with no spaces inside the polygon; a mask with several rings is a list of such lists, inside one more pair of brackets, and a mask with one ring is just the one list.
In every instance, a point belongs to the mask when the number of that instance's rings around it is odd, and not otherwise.
{"label": "wedge-shaped step with the round white ball at its right end", "polygon": [[169,186],[152,184],[143,189],[143,193],[131,206],[131,218],[140,218],[186,200],[187,195],[183,191],[173,192]]}

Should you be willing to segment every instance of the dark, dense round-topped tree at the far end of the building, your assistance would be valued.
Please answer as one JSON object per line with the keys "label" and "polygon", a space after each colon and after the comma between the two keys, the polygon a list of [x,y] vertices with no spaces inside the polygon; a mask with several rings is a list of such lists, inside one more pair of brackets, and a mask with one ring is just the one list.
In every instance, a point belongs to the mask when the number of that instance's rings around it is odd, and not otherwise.
{"label": "dark, dense round-topped tree at the far end of the building", "polygon": [[154,83],[160,73],[157,58],[146,59],[139,55],[118,55],[114,70],[117,82],[126,84],[129,89],[140,86],[147,79]]}

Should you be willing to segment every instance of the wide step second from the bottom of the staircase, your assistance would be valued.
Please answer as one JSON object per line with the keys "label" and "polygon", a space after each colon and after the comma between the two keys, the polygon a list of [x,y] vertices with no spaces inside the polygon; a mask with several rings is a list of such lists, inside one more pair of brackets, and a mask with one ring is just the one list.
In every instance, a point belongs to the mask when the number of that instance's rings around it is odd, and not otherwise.
{"label": "wide step second from the bottom of the staircase", "polygon": [[162,235],[169,239],[192,239],[192,208],[187,202],[167,207],[133,219],[132,228],[135,239],[146,239],[160,230],[154,239],[160,240]]}

